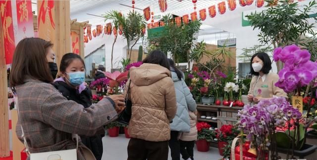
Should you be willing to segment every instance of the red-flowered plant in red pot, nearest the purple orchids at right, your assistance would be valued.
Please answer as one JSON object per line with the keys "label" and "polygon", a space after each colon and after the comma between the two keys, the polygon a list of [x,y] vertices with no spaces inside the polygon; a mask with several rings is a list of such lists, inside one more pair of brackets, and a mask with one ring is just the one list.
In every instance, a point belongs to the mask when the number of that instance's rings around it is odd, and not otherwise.
{"label": "red-flowered plant in red pot, nearest the purple orchids at right", "polygon": [[[222,125],[220,130],[216,129],[214,130],[214,133],[216,135],[216,138],[218,140],[218,150],[219,154],[221,156],[224,156],[224,158],[228,158],[230,156],[230,152],[224,152],[226,149],[226,146],[231,146],[232,140],[237,137],[237,135],[240,133],[237,127],[228,124],[228,125]],[[231,148],[229,148],[230,150]],[[224,155],[226,153],[226,155]]]}

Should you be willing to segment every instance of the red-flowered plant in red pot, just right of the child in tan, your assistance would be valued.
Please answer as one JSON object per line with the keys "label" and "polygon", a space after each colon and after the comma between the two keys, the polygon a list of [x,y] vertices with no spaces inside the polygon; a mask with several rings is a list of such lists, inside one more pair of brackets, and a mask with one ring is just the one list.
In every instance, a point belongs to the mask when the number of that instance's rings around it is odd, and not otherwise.
{"label": "red-flowered plant in red pot, just right of the child in tan", "polygon": [[198,137],[196,142],[197,150],[200,152],[208,152],[210,142],[212,140],[212,137],[214,136],[212,130],[209,129],[211,125],[207,122],[198,122],[196,126],[198,131]]}

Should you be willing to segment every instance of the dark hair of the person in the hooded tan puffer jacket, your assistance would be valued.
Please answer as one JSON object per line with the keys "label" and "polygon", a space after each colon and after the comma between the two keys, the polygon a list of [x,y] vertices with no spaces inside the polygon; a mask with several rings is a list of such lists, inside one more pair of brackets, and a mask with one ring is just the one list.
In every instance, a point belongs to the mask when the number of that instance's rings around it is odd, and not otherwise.
{"label": "dark hair of the person in the hooded tan puffer jacket", "polygon": [[152,51],[144,60],[143,63],[152,63],[152,64],[158,64],[162,67],[167,68],[170,70],[170,65],[168,63],[166,55],[159,51],[159,50],[154,50]]}

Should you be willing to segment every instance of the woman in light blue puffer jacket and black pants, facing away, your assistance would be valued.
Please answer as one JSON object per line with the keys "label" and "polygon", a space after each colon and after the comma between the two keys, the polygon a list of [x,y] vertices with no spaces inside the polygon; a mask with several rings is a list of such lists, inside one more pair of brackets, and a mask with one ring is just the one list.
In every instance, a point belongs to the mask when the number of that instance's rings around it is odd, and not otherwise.
{"label": "woman in light blue puffer jacket and black pants, facing away", "polygon": [[174,81],[177,112],[175,118],[170,124],[170,140],[169,148],[171,150],[172,160],[180,160],[180,147],[178,141],[179,132],[190,131],[190,120],[188,110],[196,111],[197,105],[190,92],[188,86],[184,81],[184,74],[175,67],[173,60],[168,59],[170,64],[170,71]]}

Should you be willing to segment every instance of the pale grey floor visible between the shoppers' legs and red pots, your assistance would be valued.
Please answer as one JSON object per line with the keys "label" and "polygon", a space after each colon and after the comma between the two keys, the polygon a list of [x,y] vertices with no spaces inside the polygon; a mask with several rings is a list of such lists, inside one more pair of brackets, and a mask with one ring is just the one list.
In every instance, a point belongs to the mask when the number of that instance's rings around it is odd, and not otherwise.
{"label": "pale grey floor visible between the shoppers' legs and red pots", "polygon": [[[127,160],[127,146],[129,139],[124,137],[124,134],[120,134],[119,137],[103,138],[104,154],[102,160]],[[219,160],[222,157],[219,155],[218,149],[211,147],[209,152],[198,152],[196,147],[194,149],[195,160]],[[170,152],[169,152],[169,158]]]}

